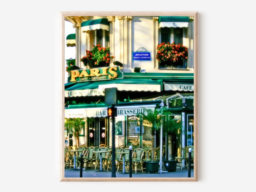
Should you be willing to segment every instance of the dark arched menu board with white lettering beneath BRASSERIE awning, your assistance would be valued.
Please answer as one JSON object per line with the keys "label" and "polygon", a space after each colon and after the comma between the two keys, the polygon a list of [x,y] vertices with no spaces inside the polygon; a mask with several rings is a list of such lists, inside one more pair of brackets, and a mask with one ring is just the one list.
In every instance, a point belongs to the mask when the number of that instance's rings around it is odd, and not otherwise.
{"label": "dark arched menu board with white lettering beneath BRASSERIE awning", "polygon": [[140,138],[140,119],[136,116],[128,116],[127,129],[128,139],[139,139]]}

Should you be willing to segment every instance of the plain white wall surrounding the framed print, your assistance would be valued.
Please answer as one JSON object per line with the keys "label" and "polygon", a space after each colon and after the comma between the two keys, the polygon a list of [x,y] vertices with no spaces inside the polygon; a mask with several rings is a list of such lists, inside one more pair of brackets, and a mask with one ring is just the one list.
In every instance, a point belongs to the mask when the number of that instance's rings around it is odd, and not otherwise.
{"label": "plain white wall surrounding the framed print", "polygon": [[[255,159],[249,161],[249,156],[255,157],[256,43],[251,1],[10,0],[1,4],[0,175],[5,191],[89,190],[87,183],[59,182],[61,11],[198,11],[199,181],[134,182],[133,188],[246,191],[254,187]],[[14,151],[5,150],[10,148]],[[24,157],[24,153],[28,154]],[[121,185],[128,183],[107,182],[104,188],[131,191]]]}

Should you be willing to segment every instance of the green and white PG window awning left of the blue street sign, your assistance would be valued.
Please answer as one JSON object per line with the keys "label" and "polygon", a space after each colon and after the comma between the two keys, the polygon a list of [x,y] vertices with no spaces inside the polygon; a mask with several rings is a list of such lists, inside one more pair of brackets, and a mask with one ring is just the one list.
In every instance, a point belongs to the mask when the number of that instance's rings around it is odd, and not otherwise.
{"label": "green and white PG window awning left of the blue street sign", "polygon": [[103,29],[109,31],[109,21],[106,18],[84,21],[81,23],[82,32],[89,33],[91,30]]}

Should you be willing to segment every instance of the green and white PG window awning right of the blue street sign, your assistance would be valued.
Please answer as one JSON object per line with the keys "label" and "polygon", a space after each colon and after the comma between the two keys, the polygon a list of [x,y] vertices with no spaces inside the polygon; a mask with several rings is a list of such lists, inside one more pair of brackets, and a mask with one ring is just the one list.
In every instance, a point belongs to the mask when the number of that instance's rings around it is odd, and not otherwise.
{"label": "green and white PG window awning right of the blue street sign", "polygon": [[188,16],[159,16],[159,28],[161,27],[188,27]]}

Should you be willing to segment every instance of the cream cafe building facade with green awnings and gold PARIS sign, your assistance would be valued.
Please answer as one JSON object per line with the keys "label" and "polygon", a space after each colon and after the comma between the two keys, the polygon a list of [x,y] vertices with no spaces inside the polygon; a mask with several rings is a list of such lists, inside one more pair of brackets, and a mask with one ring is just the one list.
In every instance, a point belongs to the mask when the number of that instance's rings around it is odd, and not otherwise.
{"label": "cream cafe building facade with green awnings and gold PARIS sign", "polygon": [[[175,146],[193,145],[194,120],[194,23],[193,16],[65,16],[75,34],[66,37],[66,46],[76,48],[76,68],[65,83],[65,118],[83,118],[80,145],[151,147],[151,129],[136,117],[144,109],[164,108],[182,121],[183,134]],[[182,44],[188,56],[179,65],[162,65],[156,58],[160,43]],[[93,45],[110,47],[114,56],[107,65],[84,65],[80,59]],[[107,116],[104,90],[117,88],[115,134]],[[167,138],[163,136],[163,146]],[[159,137],[156,137],[159,138]],[[75,145],[65,132],[67,145]],[[155,148],[160,146],[159,139]],[[166,150],[167,151],[167,150]]]}

